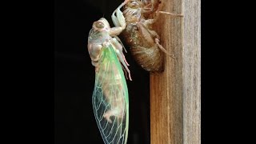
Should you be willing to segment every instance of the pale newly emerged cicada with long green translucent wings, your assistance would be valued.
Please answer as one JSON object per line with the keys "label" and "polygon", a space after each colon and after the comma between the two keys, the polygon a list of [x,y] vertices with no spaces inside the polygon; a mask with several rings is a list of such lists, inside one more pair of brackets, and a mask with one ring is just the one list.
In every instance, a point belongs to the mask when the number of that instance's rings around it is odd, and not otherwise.
{"label": "pale newly emerged cicada with long green translucent wings", "polygon": [[120,8],[112,14],[117,25],[110,28],[106,18],[93,23],[88,37],[88,51],[95,66],[95,84],[92,96],[94,116],[105,144],[126,144],[129,126],[129,99],[126,78],[129,64],[122,53],[118,34],[126,27]]}

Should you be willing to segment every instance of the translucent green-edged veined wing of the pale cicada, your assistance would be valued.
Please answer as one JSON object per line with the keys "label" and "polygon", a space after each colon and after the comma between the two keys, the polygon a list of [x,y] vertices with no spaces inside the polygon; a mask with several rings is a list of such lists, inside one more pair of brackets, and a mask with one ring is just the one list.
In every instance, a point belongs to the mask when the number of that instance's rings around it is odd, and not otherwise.
{"label": "translucent green-edged veined wing of the pale cicada", "polygon": [[113,46],[103,47],[95,74],[94,116],[105,144],[126,144],[129,100],[122,66]]}

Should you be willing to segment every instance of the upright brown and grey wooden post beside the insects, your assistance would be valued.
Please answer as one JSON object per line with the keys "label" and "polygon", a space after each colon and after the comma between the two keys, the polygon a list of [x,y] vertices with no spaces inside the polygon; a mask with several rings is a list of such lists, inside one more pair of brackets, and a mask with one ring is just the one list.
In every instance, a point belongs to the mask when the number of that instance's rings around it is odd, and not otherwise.
{"label": "upright brown and grey wooden post beside the insects", "polygon": [[169,0],[155,28],[161,44],[177,58],[166,57],[165,71],[150,74],[151,144],[199,144],[200,140],[200,1]]}

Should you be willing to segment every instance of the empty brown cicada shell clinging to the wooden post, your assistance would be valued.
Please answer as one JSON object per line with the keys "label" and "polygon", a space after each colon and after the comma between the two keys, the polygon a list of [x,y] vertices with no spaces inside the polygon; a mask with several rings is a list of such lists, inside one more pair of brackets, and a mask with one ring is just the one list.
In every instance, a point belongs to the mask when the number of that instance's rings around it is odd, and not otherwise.
{"label": "empty brown cicada shell clinging to the wooden post", "polygon": [[122,37],[130,46],[130,53],[138,65],[151,73],[163,71],[162,52],[174,58],[159,43],[160,37],[152,28],[153,23],[157,21],[160,13],[182,17],[182,14],[159,11],[160,3],[161,0],[131,0],[122,12],[127,25]]}

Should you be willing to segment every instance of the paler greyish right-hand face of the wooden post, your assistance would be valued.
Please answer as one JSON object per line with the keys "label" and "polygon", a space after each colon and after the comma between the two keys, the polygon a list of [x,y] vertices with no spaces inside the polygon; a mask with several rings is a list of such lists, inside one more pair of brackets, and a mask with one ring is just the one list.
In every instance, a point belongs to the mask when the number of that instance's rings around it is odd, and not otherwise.
{"label": "paler greyish right-hand face of the wooden post", "polygon": [[201,1],[184,1],[183,141],[201,143]]}

